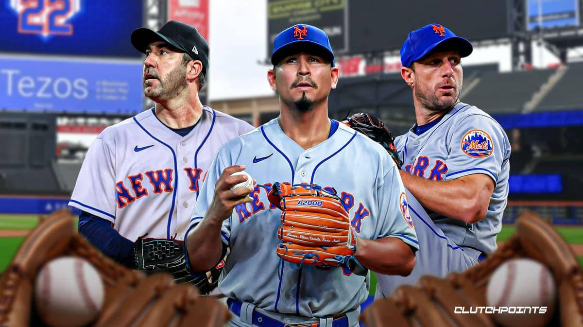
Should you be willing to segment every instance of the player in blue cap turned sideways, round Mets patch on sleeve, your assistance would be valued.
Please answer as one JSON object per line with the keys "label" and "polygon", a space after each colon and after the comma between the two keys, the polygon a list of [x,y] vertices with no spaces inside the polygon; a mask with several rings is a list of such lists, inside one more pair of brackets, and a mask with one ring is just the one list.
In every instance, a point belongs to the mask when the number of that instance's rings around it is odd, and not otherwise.
{"label": "player in blue cap turned sideways, round Mets patch on sleeve", "polygon": [[409,33],[401,76],[413,90],[416,124],[395,139],[420,251],[407,277],[378,276],[377,297],[422,275],[445,276],[496,249],[508,196],[510,143],[489,114],[461,103],[461,58],[472,44],[440,24]]}

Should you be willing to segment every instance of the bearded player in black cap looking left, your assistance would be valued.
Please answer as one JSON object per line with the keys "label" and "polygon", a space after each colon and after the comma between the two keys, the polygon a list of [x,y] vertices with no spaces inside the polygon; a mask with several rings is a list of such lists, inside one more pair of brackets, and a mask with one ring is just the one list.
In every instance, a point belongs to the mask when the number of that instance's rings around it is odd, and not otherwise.
{"label": "bearded player in black cap looking left", "polygon": [[182,240],[210,161],[252,126],[201,104],[209,48],[195,27],[171,21],[159,31],[135,30],[131,42],[147,55],[144,94],[156,106],[97,136],[69,205],[82,210],[79,232],[93,245],[125,266],[145,268],[134,242]]}

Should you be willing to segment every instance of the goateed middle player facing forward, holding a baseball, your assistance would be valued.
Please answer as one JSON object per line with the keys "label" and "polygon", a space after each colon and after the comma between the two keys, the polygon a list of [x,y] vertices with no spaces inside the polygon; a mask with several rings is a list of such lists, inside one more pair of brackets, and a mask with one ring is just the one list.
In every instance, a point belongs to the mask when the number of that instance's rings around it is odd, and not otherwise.
{"label": "goateed middle player facing forward, holding a baseball", "polygon": [[[212,267],[222,248],[230,247],[219,290],[236,316],[231,326],[356,326],[359,305],[368,296],[367,270],[308,265],[307,257],[299,264],[280,258],[285,254],[276,248],[288,243],[280,244],[277,234],[286,216],[270,202],[268,191],[271,197],[282,182],[280,191],[287,184],[297,185],[296,191],[335,193],[356,234],[354,262],[408,275],[417,237],[408,210],[399,205],[405,188],[382,146],[328,118],[328,94],[339,72],[324,31],[306,24],[283,30],[271,60],[267,78],[279,94],[280,115],[227,142],[213,160],[185,237],[191,269]],[[231,190],[245,180],[230,175],[241,170],[261,185]],[[319,206],[321,201],[298,205]],[[324,254],[326,248],[314,252]]]}

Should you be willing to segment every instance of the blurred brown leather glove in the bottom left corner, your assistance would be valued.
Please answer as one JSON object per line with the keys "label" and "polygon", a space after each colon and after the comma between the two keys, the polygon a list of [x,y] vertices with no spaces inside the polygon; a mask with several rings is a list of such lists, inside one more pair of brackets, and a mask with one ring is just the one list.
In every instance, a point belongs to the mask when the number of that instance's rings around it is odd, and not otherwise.
{"label": "blurred brown leather glove in the bottom left corner", "polygon": [[[107,258],[77,234],[73,216],[48,216],[20,246],[0,282],[0,326],[44,326],[33,305],[40,268],[60,256],[78,256],[97,269],[104,285],[103,307],[91,327],[223,326],[227,308],[199,297],[191,284],[176,285],[166,273],[144,275]],[[66,319],[62,317],[62,319]]]}

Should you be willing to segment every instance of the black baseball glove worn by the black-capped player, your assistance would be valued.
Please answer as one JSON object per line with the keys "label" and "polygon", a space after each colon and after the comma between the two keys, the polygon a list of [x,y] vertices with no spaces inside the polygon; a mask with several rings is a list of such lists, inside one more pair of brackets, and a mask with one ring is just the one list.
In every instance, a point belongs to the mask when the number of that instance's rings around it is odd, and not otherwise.
{"label": "black baseball glove worn by the black-capped player", "polygon": [[223,269],[223,261],[206,273],[191,275],[184,255],[184,241],[162,238],[138,238],[134,242],[136,268],[143,272],[170,273],[176,284],[191,283],[198,287],[201,295],[215,289]]}

